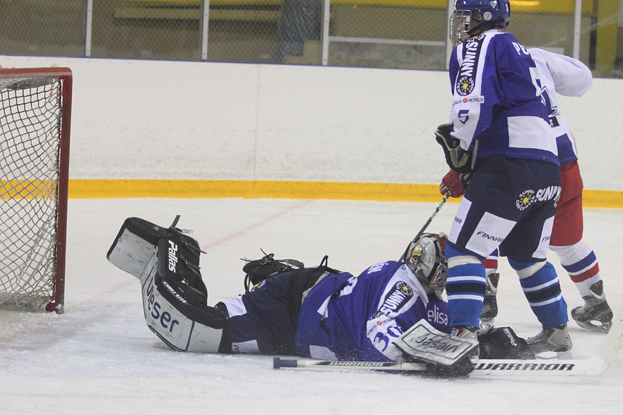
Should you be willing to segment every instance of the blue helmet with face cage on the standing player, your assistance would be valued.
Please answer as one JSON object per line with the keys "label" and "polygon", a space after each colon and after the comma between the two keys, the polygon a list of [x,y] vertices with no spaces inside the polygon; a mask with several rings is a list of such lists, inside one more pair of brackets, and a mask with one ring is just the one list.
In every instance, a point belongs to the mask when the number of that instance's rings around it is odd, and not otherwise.
{"label": "blue helmet with face cage on the standing player", "polygon": [[493,26],[506,27],[509,0],[457,0],[450,18],[450,39],[456,46]]}

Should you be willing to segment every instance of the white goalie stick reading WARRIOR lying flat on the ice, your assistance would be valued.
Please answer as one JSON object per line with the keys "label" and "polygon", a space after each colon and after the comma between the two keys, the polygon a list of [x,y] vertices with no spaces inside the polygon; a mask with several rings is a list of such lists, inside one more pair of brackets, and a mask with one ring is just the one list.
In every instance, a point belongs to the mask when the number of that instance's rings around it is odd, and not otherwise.
{"label": "white goalie stick reading WARRIOR lying flat on the ice", "polygon": [[[577,360],[549,359],[480,359],[473,361],[470,378],[516,376],[595,376],[604,373],[623,347],[623,307],[595,355]],[[426,363],[418,362],[347,362],[274,358],[273,368],[323,370],[390,371],[426,374]]]}

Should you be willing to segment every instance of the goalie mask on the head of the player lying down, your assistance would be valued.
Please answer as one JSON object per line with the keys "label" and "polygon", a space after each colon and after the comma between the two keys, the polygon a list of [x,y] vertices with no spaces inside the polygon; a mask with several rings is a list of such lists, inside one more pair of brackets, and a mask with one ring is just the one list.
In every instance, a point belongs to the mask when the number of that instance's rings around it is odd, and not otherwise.
{"label": "goalie mask on the head of the player lying down", "polygon": [[448,263],[445,248],[446,234],[422,234],[411,241],[407,248],[405,263],[424,286],[428,286],[441,299],[446,287]]}

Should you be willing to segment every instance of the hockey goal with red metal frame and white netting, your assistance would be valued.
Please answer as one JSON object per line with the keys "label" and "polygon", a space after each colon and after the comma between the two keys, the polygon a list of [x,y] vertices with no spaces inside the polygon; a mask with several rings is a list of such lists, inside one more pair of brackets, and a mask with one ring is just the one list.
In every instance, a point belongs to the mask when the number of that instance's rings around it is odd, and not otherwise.
{"label": "hockey goal with red metal frame and white netting", "polygon": [[69,68],[0,68],[0,308],[63,312]]}

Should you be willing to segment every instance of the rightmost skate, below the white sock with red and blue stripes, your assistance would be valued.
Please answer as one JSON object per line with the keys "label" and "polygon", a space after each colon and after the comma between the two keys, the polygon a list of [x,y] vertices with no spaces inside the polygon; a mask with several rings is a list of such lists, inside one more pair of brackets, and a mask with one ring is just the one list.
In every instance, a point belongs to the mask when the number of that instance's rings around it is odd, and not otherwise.
{"label": "rightmost skate, below the white sock with red and blue stripes", "polygon": [[590,294],[582,297],[584,306],[571,310],[571,318],[584,329],[608,333],[612,326],[612,309],[606,302],[604,282],[598,281],[590,286]]}

